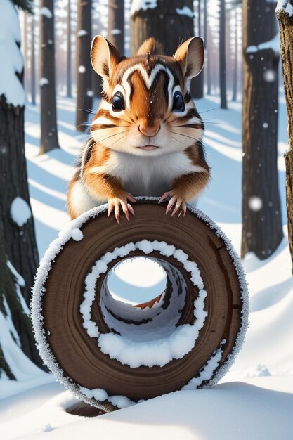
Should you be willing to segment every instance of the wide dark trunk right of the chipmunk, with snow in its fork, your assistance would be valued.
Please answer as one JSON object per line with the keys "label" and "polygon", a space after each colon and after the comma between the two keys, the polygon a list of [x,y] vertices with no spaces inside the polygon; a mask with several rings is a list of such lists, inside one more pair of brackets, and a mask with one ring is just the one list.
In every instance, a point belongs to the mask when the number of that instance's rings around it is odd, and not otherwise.
{"label": "wide dark trunk right of the chipmunk, with snow in its fork", "polygon": [[[273,254],[282,240],[278,189],[278,63],[275,4],[243,2],[242,257]],[[264,48],[259,46],[266,42]]]}

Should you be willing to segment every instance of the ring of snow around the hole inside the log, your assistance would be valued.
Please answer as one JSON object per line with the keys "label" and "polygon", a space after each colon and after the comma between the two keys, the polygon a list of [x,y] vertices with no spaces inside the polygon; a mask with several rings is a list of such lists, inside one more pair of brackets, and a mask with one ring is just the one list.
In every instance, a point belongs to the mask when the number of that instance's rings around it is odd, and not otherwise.
{"label": "ring of snow around the hole inside the log", "polygon": [[[162,323],[162,318],[167,314],[167,311],[173,306],[174,300],[171,302],[172,297],[174,298],[174,290],[172,291],[170,304],[167,309],[157,310],[157,316],[159,316],[161,325],[169,327],[169,335],[160,337],[158,335],[152,340],[134,340],[130,337],[124,336],[123,330],[119,331],[119,335],[113,333],[105,333],[100,335],[98,327],[94,321],[91,319],[91,308],[93,301],[96,297],[96,280],[100,277],[101,273],[106,273],[108,271],[108,264],[115,260],[117,257],[126,258],[131,252],[135,250],[141,250],[145,255],[150,254],[150,252],[157,251],[166,257],[174,255],[175,259],[183,264],[183,268],[186,272],[190,273],[190,279],[199,290],[199,295],[194,302],[194,316],[195,322],[193,325],[185,324],[178,325],[176,327],[176,322],[180,316],[173,323],[169,319]],[[129,242],[122,247],[115,247],[114,250],[108,251],[107,254],[103,255],[91,268],[91,272],[85,278],[86,290],[84,292],[84,300],[80,306],[80,311],[83,317],[83,327],[86,329],[87,334],[90,337],[98,337],[98,346],[101,351],[108,354],[111,359],[116,359],[117,361],[123,363],[124,365],[129,365],[131,368],[138,368],[141,365],[147,367],[152,367],[158,365],[160,367],[167,365],[173,359],[181,359],[185,354],[188,354],[193,347],[200,334],[200,330],[204,326],[204,320],[207,317],[207,311],[204,310],[204,300],[207,297],[207,292],[204,290],[204,282],[202,276],[200,275],[200,269],[198,268],[195,261],[190,261],[188,255],[181,249],[176,249],[174,245],[170,245],[167,242],[157,241],[157,240],[141,240],[136,243]],[[176,287],[175,287],[176,288]],[[102,294],[103,297],[103,294]],[[116,302],[121,304],[121,302]],[[123,304],[123,303],[122,303]],[[145,317],[145,312],[150,311],[146,308],[142,311],[136,309],[133,306],[128,307],[132,309],[134,313],[141,313]],[[183,308],[183,304],[180,305],[179,310]],[[120,308],[121,309],[121,308]],[[124,306],[125,309],[125,306]],[[114,310],[113,310],[114,312]],[[119,313],[118,310],[115,313]],[[129,315],[129,317],[131,314]],[[152,317],[152,318],[155,318]],[[169,321],[169,322],[168,322]],[[151,323],[153,323],[153,319]],[[152,325],[148,325],[148,329],[145,331],[150,331]],[[158,325],[158,323],[156,323]],[[145,325],[147,327],[147,325]],[[115,347],[115,349],[113,349]]]}

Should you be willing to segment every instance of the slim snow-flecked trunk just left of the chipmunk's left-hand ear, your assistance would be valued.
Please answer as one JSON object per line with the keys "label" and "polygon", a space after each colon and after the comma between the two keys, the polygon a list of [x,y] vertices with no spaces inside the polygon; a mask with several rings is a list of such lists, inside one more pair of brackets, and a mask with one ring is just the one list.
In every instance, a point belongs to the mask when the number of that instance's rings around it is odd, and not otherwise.
{"label": "slim snow-flecked trunk just left of the chipmunk's left-hand ear", "polygon": [[86,131],[93,103],[91,49],[91,0],[77,3],[77,115],[78,131]]}

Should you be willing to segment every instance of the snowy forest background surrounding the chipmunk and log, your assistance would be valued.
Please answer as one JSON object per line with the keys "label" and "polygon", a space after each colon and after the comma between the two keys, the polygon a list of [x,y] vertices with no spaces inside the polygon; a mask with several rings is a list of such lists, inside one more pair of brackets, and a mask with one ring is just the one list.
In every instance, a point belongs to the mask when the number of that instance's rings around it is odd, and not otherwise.
{"label": "snowy forest background surrounding the chipmunk and log", "polygon": [[[211,179],[191,205],[241,259],[249,326],[219,384],[77,415],[77,396],[39,356],[31,306],[37,268],[70,224],[67,188],[107,101],[92,67],[96,35],[123,59],[150,37],[176,59],[185,40],[202,37],[190,99]],[[292,63],[289,0],[0,0],[0,439],[292,439]],[[152,263],[118,266],[113,297],[123,285],[119,301],[157,299],[165,273]]]}

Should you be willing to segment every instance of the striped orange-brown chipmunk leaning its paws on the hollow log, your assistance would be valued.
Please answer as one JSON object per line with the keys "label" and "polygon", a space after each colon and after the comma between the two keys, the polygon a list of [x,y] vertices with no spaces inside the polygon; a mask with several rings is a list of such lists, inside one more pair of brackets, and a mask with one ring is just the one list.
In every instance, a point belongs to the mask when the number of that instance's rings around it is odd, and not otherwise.
{"label": "striped orange-brown chipmunk leaning its paws on the hollow log", "polygon": [[166,214],[180,216],[186,201],[209,182],[204,124],[190,95],[190,79],[204,65],[204,44],[193,37],[173,57],[160,55],[154,38],[136,56],[121,57],[112,44],[94,37],[93,69],[103,77],[103,98],[67,194],[71,218],[108,202],[119,223],[129,221],[134,196],[170,198]]}

